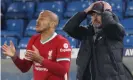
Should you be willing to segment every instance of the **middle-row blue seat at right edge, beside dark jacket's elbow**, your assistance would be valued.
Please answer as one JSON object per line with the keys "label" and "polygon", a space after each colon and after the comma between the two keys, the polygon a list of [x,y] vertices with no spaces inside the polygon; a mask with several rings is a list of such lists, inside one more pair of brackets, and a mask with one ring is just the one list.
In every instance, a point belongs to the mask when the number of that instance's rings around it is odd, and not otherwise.
{"label": "middle-row blue seat at right edge, beside dark jacket's elbow", "polygon": [[121,24],[124,26],[127,35],[133,35],[133,18],[127,18],[124,20],[121,20]]}

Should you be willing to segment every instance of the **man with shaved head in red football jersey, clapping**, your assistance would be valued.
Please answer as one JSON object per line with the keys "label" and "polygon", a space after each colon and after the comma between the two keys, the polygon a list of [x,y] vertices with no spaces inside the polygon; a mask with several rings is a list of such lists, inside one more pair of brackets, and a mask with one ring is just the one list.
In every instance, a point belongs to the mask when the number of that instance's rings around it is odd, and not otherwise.
{"label": "man with shaved head in red football jersey, clapping", "polygon": [[33,65],[34,80],[68,80],[71,47],[67,39],[55,32],[58,21],[51,11],[40,13],[36,24],[40,34],[31,37],[23,60],[16,56],[12,41],[9,46],[2,46],[3,53],[10,56],[22,72]]}

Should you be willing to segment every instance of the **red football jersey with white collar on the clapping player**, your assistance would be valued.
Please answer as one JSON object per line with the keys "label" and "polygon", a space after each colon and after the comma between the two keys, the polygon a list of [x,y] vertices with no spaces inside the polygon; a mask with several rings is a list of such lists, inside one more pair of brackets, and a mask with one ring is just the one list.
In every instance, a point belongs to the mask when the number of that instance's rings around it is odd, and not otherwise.
{"label": "red football jersey with white collar on the clapping player", "polygon": [[22,61],[17,58],[14,61],[16,66],[26,72],[33,64],[34,80],[68,80],[71,60],[71,47],[68,40],[56,33],[45,42],[40,41],[40,38],[40,34],[32,36],[27,50],[32,50],[34,45],[44,57],[43,63],[39,64],[26,59]]}

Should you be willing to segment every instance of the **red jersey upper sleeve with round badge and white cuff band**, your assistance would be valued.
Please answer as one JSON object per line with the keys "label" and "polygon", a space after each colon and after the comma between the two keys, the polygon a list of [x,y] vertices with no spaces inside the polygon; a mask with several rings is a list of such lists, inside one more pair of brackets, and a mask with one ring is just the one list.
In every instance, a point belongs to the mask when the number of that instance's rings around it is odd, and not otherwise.
{"label": "red jersey upper sleeve with round badge and white cuff band", "polygon": [[57,48],[57,58],[56,61],[70,61],[71,59],[71,46],[67,40],[63,40],[59,43]]}

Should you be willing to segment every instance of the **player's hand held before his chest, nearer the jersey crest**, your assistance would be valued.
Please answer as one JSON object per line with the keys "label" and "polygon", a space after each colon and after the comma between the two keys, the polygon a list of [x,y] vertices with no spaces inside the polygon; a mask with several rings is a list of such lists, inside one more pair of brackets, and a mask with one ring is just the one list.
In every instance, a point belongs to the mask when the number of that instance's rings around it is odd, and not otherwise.
{"label": "player's hand held before his chest, nearer the jersey crest", "polygon": [[35,62],[38,62],[38,63],[42,63],[44,58],[40,55],[39,53],[39,50],[33,45],[32,46],[33,50],[27,50],[26,52],[26,57],[29,59],[29,60],[32,60],[32,61],[35,61]]}

